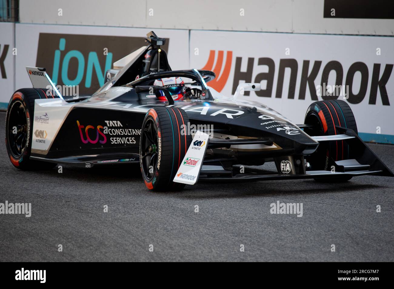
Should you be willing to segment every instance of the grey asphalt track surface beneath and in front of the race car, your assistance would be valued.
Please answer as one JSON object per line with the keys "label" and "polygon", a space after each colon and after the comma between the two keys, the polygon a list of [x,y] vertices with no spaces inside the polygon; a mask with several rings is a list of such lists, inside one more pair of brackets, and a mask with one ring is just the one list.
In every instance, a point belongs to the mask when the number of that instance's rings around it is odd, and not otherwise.
{"label": "grey asphalt track surface beneath and in front of the race car", "polygon": [[[369,145],[393,170],[394,145]],[[394,178],[152,193],[136,166],[20,171],[4,139],[0,172],[0,202],[32,203],[31,217],[0,215],[1,261],[394,261]],[[303,216],[270,214],[277,201],[303,203]]]}

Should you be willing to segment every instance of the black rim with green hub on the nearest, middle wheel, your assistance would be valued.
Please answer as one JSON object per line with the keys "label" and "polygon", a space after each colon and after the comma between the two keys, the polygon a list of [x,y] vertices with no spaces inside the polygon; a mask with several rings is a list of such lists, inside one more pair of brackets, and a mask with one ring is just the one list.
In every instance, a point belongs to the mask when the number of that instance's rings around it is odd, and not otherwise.
{"label": "black rim with green hub on the nearest, middle wheel", "polygon": [[152,118],[148,118],[142,128],[140,158],[142,173],[145,179],[149,181],[153,179],[156,172],[158,161],[157,149],[158,136],[156,125]]}

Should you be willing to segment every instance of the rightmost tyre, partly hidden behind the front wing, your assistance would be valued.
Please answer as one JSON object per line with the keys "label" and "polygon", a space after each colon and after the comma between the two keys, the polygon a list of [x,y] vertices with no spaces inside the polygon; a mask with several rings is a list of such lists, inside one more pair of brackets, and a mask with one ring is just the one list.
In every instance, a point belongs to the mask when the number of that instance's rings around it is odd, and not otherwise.
{"label": "rightmost tyre, partly hidden behind the front wing", "polygon": [[[312,125],[307,132],[313,136],[338,134],[335,125],[352,129],[357,134],[357,124],[348,103],[343,100],[323,100],[312,103],[305,115],[305,124]],[[329,171],[329,159],[334,161],[352,158],[349,145],[343,140],[321,143],[318,149],[307,158],[313,170]],[[315,179],[318,182],[345,182],[352,177]]]}

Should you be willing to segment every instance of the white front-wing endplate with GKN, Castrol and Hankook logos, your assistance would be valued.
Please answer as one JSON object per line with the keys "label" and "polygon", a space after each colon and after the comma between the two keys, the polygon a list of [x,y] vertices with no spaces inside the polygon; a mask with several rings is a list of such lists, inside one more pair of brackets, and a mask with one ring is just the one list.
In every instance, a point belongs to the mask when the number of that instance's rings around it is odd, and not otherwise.
{"label": "white front-wing endplate with GKN, Castrol and Hankook logos", "polygon": [[191,144],[183,158],[174,182],[193,185],[197,182],[201,166],[203,165],[204,155],[208,147],[209,134],[197,131]]}

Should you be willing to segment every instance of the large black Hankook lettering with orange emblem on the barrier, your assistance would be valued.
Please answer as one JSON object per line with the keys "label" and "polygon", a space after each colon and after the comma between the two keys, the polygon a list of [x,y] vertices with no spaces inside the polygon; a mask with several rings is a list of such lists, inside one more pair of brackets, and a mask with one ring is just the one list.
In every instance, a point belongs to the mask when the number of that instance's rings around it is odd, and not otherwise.
{"label": "large black Hankook lettering with orange emblem on the barrier", "polygon": [[[232,66],[232,51],[227,51],[225,60],[223,59],[224,51],[217,51],[217,56],[215,57],[215,50],[210,50],[208,61],[203,70],[213,70],[216,75],[220,77],[210,81],[209,85],[217,91],[223,90],[229,78],[231,66]],[[328,77],[330,72],[336,73],[336,82],[333,87],[340,90],[342,83],[345,82],[345,87],[350,89],[346,92],[346,100],[349,103],[357,104],[363,101],[365,98],[368,99],[368,104],[375,105],[378,96],[378,91],[380,93],[380,98],[383,105],[390,105],[386,84],[390,79],[391,72],[393,70],[394,64],[381,64],[374,63],[373,67],[368,67],[366,63],[357,61],[350,65],[348,71],[344,71],[343,65],[339,61],[329,61],[325,65],[322,65],[322,61],[310,61],[310,60],[297,60],[297,59],[279,59],[274,61],[274,59],[269,57],[259,57],[257,60],[257,68],[255,66],[254,57],[236,57],[235,68],[234,68],[234,79],[232,83],[232,94],[235,93],[236,88],[240,83],[261,83],[266,81],[266,89],[255,91],[256,96],[269,97],[273,96],[273,82],[275,76],[275,68],[279,67],[277,73],[277,86],[275,92],[275,98],[282,98],[284,81],[288,78],[285,77],[285,70],[290,69],[290,79],[289,89],[287,92],[287,98],[296,98],[296,87],[298,90],[298,99],[305,100],[307,87],[309,88],[310,98],[313,101],[319,100],[318,96],[322,99],[338,99],[338,94],[333,94],[329,91],[320,92],[318,95],[317,87],[328,86]],[[216,59],[216,61],[215,61]],[[246,70],[241,69],[241,64],[245,64]],[[217,64],[219,62],[219,64]],[[216,63],[214,67],[214,63]],[[224,69],[222,66],[224,64]],[[312,66],[312,68],[310,68]],[[381,67],[382,66],[382,67]],[[256,74],[256,70],[263,70],[264,67],[268,67],[268,72],[260,72]],[[310,72],[309,72],[310,71]],[[316,79],[320,71],[323,71],[322,78]],[[369,76],[369,71],[372,71],[372,75]],[[383,71],[380,73],[380,71]],[[220,74],[221,73],[221,74]],[[296,83],[297,74],[301,73],[300,83]],[[361,74],[361,80],[356,80],[355,75]],[[252,79],[252,75],[255,78]],[[287,80],[286,80],[287,81]],[[315,83],[316,82],[316,83]],[[353,85],[354,83],[354,85]],[[367,89],[370,88],[369,96],[367,95]],[[245,91],[244,96],[249,96],[250,91]],[[284,93],[284,97],[286,92]]]}

